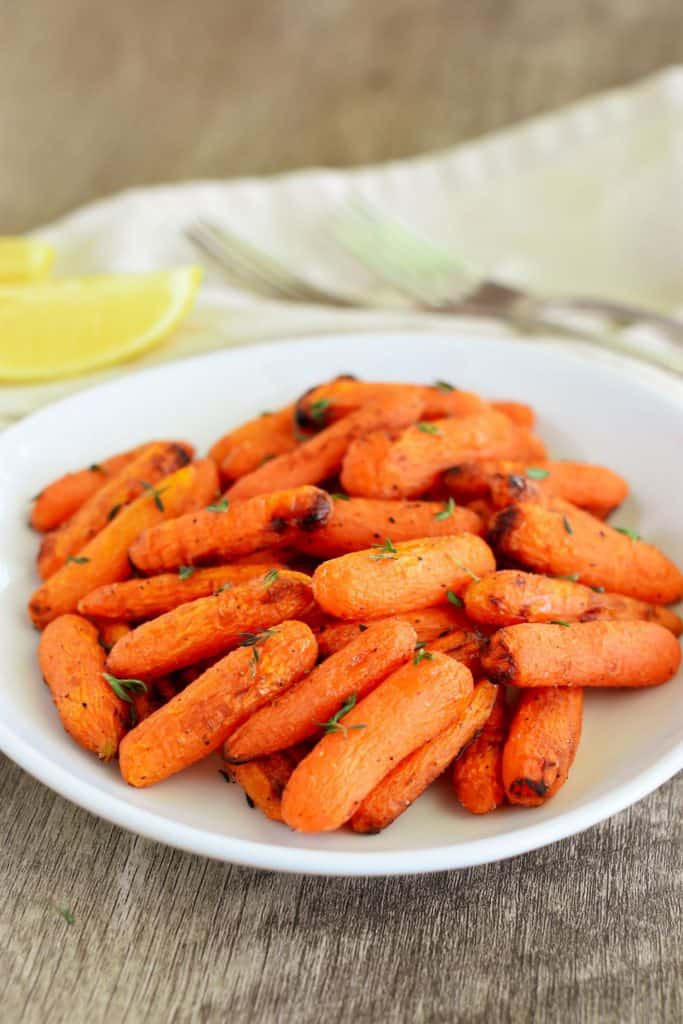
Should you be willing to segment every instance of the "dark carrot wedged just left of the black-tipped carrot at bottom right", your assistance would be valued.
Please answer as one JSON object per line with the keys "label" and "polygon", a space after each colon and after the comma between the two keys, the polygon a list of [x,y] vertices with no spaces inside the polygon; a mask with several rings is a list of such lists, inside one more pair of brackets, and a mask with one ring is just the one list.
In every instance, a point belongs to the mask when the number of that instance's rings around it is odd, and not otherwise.
{"label": "dark carrot wedged just left of the black-tipped carrot at bottom right", "polygon": [[507,734],[505,688],[499,686],[481,732],[463,751],[453,769],[456,797],[471,814],[488,814],[505,801],[503,745]]}

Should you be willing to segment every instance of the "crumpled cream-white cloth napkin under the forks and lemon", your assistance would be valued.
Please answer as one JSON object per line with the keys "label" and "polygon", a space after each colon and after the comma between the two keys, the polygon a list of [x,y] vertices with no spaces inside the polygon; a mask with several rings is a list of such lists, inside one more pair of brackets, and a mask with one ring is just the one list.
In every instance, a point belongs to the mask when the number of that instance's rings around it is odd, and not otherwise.
{"label": "crumpled cream-white cloth napkin under the forks and lemon", "polygon": [[[183,229],[224,222],[297,272],[338,290],[367,278],[332,242],[352,199],[398,216],[488,275],[547,294],[683,309],[683,69],[601,94],[444,153],[356,170],[140,188],[37,229],[55,272],[148,270],[196,262]],[[184,325],[132,362],[47,385],[0,388],[0,425],[114,374],[226,345],[354,330],[447,330],[446,316],[266,302],[207,266]],[[478,335],[507,333],[468,319]],[[462,325],[462,319],[460,321]],[[644,328],[613,339],[683,372],[683,350]]]}

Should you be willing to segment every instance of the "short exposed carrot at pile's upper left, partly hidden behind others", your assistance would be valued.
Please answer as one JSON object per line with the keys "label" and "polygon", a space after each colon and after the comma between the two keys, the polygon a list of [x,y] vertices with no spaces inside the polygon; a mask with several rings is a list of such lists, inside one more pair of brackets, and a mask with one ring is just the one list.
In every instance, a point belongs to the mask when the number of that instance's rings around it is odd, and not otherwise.
{"label": "short exposed carrot at pile's upper left, partly hidden behind others", "polygon": [[268,459],[291,452],[299,443],[294,432],[294,406],[262,413],[224,434],[209,449],[225,481],[258,469]]}

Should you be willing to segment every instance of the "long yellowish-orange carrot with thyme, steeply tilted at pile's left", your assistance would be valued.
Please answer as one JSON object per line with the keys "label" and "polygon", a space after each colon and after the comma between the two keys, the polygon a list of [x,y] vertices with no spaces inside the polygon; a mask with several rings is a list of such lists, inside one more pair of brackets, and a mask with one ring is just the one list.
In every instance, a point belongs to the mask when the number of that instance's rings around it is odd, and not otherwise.
{"label": "long yellowish-orange carrot with thyme, steeply tilted at pile's left", "polygon": [[74,561],[62,565],[34,593],[29,603],[34,625],[42,629],[57,615],[75,611],[81,598],[95,587],[126,580],[132,571],[128,548],[138,534],[162,519],[206,505],[215,487],[216,467],[210,459],[203,459],[136,498],[81,549]]}

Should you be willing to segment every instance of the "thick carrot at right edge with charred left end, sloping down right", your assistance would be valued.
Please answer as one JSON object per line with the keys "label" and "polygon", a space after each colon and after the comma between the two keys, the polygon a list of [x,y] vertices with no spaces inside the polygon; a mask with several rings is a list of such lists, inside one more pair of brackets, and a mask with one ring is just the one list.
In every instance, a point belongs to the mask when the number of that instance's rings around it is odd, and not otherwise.
{"label": "thick carrot at right edge with charred left end, sloping down right", "polygon": [[589,587],[651,604],[683,596],[683,573],[657,548],[559,499],[552,508],[522,503],[503,509],[489,539],[501,554],[537,572],[578,573]]}

